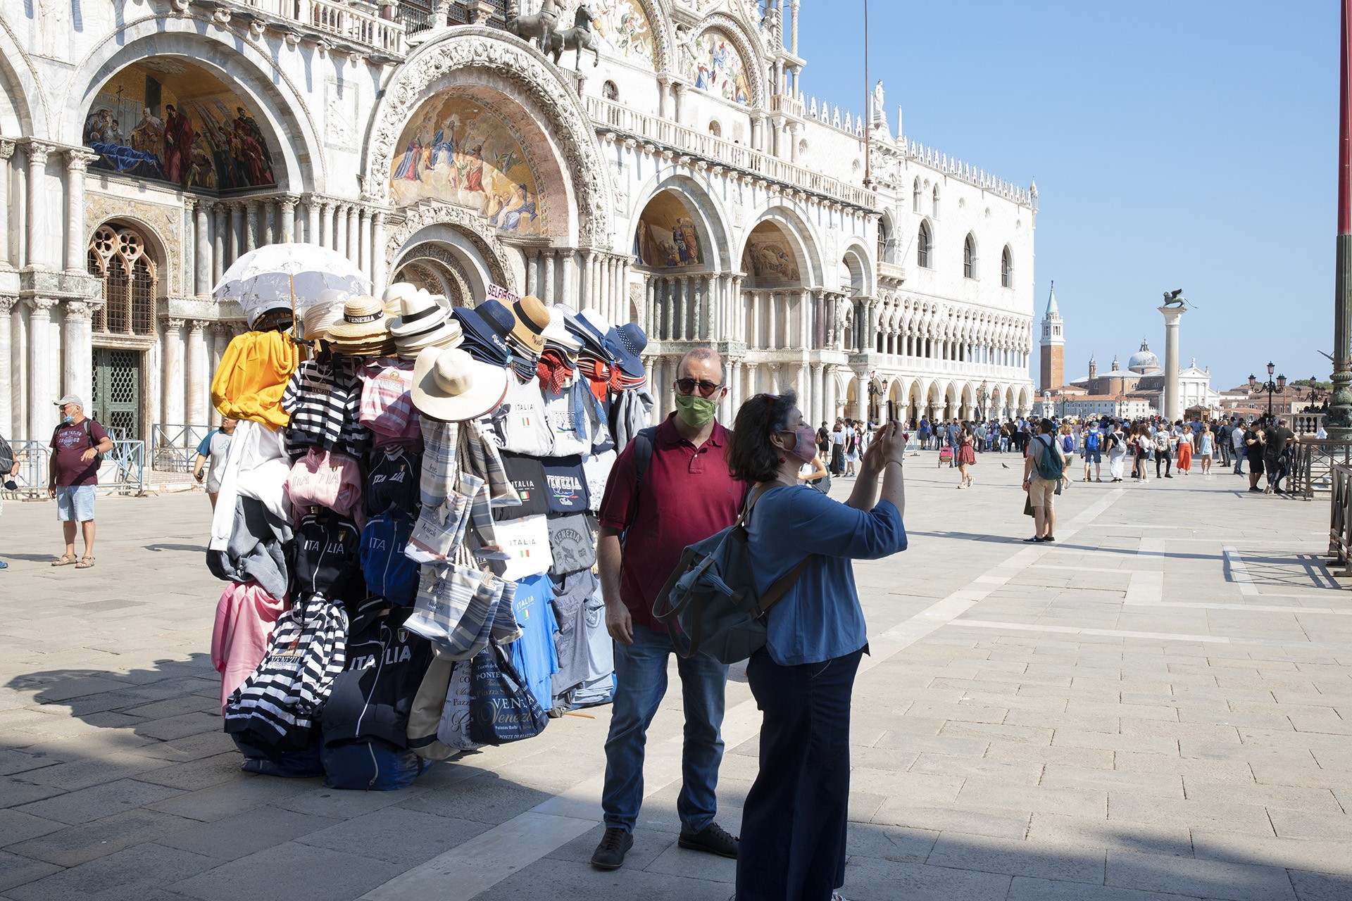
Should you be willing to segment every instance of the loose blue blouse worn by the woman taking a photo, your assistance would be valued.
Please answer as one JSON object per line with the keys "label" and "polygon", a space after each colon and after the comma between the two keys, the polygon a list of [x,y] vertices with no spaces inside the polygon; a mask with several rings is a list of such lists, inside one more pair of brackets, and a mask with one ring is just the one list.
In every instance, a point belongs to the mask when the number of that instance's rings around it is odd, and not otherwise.
{"label": "loose blue blouse worn by the woman taking a photo", "polygon": [[771,608],[771,659],[780,666],[821,663],[868,643],[850,561],[906,550],[906,527],[895,505],[880,501],[865,513],[808,485],[784,485],[756,503],[748,532],[760,592],[807,554],[818,555]]}

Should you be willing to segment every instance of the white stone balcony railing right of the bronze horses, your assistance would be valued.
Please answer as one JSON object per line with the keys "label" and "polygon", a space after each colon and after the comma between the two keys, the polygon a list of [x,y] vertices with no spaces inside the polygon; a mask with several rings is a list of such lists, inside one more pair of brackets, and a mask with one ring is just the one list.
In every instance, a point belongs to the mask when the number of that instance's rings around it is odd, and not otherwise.
{"label": "white stone balcony railing right of the bronze horses", "polygon": [[699,157],[707,162],[737,169],[750,176],[777,181],[791,188],[821,195],[863,209],[875,209],[877,196],[865,188],[849,185],[810,169],[784,162],[777,157],[752,150],[711,134],[690,128],[661,116],[630,109],[602,97],[585,97],[587,113],[598,132],[614,131],[664,150]]}

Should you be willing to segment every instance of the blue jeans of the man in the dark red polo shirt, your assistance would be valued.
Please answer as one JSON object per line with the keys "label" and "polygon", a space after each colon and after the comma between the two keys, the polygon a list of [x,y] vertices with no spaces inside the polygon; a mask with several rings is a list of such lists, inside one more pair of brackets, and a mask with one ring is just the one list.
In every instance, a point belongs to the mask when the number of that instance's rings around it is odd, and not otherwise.
{"label": "blue jeans of the man in the dark red polo shirt", "polygon": [[[646,625],[634,628],[634,643],[615,643],[615,698],[606,739],[606,789],[600,806],[606,828],[634,831],[644,804],[644,744],[648,725],[667,694],[667,661],[672,639]],[[718,812],[718,765],[723,761],[723,704],[727,667],[696,654],[676,659],[685,708],[685,747],[676,813],[681,829],[699,832]]]}

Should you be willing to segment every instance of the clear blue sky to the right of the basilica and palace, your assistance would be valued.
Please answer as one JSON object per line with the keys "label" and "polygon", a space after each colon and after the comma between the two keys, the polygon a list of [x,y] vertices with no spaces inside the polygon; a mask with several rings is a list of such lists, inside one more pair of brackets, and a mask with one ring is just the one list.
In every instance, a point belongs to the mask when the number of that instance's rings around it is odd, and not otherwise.
{"label": "clear blue sky to the right of the basilica and palace", "polygon": [[[863,0],[802,7],[804,92],[863,111]],[[894,130],[900,105],[911,139],[1037,178],[1036,317],[1055,280],[1067,378],[1142,336],[1163,358],[1175,288],[1213,388],[1268,359],[1328,378],[1336,0],[871,0],[869,34]]]}

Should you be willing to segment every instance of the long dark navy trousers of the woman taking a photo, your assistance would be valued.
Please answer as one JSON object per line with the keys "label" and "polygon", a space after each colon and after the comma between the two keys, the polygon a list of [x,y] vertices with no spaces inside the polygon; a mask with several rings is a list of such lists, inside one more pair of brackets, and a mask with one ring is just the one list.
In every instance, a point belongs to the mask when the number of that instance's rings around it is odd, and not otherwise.
{"label": "long dark navy trousers of the woman taking a photo", "polygon": [[863,651],[780,666],[746,665],[763,713],[760,773],[742,808],[738,901],[829,901],[845,885],[849,708]]}

